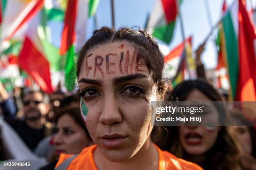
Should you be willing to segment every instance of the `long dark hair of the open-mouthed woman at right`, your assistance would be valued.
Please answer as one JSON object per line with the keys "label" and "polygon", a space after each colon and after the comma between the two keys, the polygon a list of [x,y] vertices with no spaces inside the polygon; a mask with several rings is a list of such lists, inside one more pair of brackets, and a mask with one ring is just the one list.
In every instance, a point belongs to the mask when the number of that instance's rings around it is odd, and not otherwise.
{"label": "long dark hair of the open-mouthed woman at right", "polygon": [[[171,92],[169,100],[186,100],[192,90],[199,90],[206,95],[212,101],[220,101],[221,97],[218,92],[204,80],[186,80],[177,85]],[[224,111],[224,105],[215,105],[215,107],[222,107]],[[224,112],[225,113],[225,112]],[[221,117],[219,115],[219,117]],[[223,117],[221,117],[223,118]],[[166,126],[167,131],[161,133],[162,140],[159,143],[159,147],[162,150],[168,150],[179,158],[185,160],[187,153],[182,147],[179,141],[179,126]],[[210,150],[205,153],[206,160],[199,164],[203,169],[215,170],[215,169],[236,169],[240,167],[239,159],[241,153],[238,144],[234,140],[227,126],[220,126],[218,137]]]}

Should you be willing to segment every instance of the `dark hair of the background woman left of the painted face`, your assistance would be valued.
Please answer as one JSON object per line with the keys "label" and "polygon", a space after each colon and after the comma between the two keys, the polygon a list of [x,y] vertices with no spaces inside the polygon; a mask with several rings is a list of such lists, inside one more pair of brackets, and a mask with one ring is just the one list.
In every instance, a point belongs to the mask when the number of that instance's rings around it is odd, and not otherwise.
{"label": "dark hair of the background woman left of the painted face", "polygon": [[84,125],[84,120],[81,116],[79,107],[64,108],[61,111],[57,112],[56,117],[55,117],[55,123],[57,123],[59,118],[61,118],[64,115],[69,115],[70,117],[72,117],[74,119],[74,121],[77,123],[77,125],[79,125],[84,130],[84,132],[87,135],[87,138],[91,139],[91,136],[90,136],[86,126]]}

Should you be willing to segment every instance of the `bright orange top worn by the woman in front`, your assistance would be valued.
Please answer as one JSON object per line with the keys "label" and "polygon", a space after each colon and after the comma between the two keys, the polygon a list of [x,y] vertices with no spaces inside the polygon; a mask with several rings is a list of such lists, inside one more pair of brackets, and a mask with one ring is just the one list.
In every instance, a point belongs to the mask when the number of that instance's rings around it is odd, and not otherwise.
{"label": "bright orange top worn by the woman in front", "polygon": [[[158,170],[202,170],[200,166],[194,163],[179,159],[167,151],[162,151],[156,145],[155,147],[159,155]],[[93,151],[96,148],[96,145],[84,148],[82,152],[72,160],[67,170],[98,170],[93,160]],[[61,154],[56,167],[70,156],[72,155]]]}

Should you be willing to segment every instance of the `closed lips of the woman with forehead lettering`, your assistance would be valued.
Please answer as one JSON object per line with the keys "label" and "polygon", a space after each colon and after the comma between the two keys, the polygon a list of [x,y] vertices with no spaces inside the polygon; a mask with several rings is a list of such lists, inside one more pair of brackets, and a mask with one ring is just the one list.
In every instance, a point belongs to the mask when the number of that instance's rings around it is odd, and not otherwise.
{"label": "closed lips of the woman with forehead lettering", "polygon": [[111,135],[103,135],[100,137],[100,143],[103,144],[106,148],[118,148],[123,143],[125,143],[125,140],[127,139],[127,136],[125,135],[119,135],[119,134],[111,134]]}

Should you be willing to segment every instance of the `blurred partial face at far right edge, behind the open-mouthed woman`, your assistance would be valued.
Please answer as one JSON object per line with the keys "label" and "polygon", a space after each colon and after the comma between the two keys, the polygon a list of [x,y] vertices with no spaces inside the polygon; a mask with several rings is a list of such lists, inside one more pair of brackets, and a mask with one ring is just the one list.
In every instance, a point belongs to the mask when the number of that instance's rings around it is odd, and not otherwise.
{"label": "blurred partial face at far right edge, behind the open-mouthed woman", "polygon": [[238,142],[241,145],[244,154],[251,155],[252,152],[252,143],[251,143],[251,135],[246,126],[230,126],[236,137],[238,138]]}

